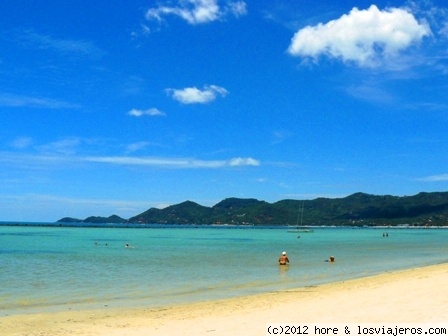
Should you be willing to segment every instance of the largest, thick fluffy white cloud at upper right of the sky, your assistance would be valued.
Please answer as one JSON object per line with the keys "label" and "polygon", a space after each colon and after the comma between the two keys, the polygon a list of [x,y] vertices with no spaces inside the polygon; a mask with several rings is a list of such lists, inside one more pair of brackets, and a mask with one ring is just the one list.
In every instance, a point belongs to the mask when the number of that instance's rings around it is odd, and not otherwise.
{"label": "largest, thick fluffy white cloud at upper right of the sky", "polygon": [[369,67],[398,55],[430,34],[428,25],[418,22],[409,11],[379,10],[372,5],[366,10],[353,8],[337,20],[300,29],[288,52],[314,60],[325,55]]}

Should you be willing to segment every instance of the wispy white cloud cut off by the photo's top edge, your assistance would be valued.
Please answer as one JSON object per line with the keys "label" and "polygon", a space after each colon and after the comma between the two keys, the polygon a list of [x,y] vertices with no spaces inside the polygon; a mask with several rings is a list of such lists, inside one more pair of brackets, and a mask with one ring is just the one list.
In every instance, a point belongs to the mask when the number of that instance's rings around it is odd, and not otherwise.
{"label": "wispy white cloud cut off by the photo's top edge", "polygon": [[160,5],[149,9],[146,18],[162,21],[164,16],[175,15],[194,25],[220,20],[228,15],[238,17],[246,13],[244,1],[179,0],[176,6]]}

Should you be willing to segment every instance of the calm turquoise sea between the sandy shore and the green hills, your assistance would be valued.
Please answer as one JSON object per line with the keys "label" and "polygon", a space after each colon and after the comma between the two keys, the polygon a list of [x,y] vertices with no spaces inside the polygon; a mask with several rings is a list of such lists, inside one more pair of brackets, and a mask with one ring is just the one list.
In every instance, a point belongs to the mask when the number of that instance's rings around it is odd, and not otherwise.
{"label": "calm turquoise sea between the sandy shore and the green hills", "polygon": [[0,225],[0,316],[157,307],[448,262],[448,229],[287,230]]}

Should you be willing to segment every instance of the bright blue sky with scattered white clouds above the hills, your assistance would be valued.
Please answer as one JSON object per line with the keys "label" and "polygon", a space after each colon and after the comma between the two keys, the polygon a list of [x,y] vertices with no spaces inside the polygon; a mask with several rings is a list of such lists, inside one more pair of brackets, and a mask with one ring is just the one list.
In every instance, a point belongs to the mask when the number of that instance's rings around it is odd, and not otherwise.
{"label": "bright blue sky with scattered white clouds above the hills", "polygon": [[0,220],[448,188],[445,1],[0,13]]}

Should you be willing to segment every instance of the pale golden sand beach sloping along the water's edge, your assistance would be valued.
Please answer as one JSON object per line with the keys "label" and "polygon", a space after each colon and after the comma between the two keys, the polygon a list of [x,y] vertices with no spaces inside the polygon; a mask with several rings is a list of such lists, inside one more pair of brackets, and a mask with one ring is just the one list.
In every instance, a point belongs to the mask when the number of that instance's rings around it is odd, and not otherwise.
{"label": "pale golden sand beach sloping along the water's edge", "polygon": [[265,335],[267,323],[448,322],[448,264],[159,309],[0,318],[1,335]]}

